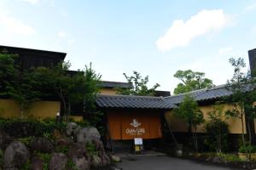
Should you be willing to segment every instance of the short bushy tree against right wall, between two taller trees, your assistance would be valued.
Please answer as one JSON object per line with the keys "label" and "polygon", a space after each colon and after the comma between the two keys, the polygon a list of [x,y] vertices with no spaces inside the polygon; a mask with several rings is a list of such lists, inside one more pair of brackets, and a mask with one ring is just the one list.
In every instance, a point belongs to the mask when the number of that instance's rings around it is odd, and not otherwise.
{"label": "short bushy tree against right wall, between two taller trees", "polygon": [[225,122],[229,118],[224,112],[224,105],[219,102],[213,106],[212,111],[208,112],[209,119],[205,125],[207,130],[207,139],[205,143],[211,149],[221,153],[228,145],[228,124]]}

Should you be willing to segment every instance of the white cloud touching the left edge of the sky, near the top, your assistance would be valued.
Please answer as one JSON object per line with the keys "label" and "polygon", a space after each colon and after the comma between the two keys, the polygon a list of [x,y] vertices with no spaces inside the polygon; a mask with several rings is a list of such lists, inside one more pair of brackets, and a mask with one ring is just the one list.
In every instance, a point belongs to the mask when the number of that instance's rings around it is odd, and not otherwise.
{"label": "white cloud touching the left edge of the sky, near the top", "polygon": [[36,31],[22,20],[10,16],[9,11],[0,6],[0,27],[12,34],[32,35]]}

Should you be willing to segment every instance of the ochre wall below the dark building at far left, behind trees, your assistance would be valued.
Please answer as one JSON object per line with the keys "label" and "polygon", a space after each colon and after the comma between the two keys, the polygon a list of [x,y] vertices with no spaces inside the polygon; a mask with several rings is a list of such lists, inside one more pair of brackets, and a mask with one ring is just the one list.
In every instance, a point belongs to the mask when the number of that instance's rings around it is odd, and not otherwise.
{"label": "ochre wall below the dark building at far left, behind trees", "polygon": [[[0,99],[0,111],[0,116],[5,118],[20,116],[20,108],[12,99]],[[39,118],[55,117],[56,113],[60,111],[61,103],[59,101],[38,101],[28,115]]]}

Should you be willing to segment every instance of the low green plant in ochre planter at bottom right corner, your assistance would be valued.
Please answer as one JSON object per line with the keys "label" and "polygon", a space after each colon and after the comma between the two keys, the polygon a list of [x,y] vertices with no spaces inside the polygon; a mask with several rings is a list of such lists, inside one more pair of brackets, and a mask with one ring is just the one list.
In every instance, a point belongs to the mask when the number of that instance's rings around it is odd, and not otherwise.
{"label": "low green plant in ochre planter at bottom right corner", "polygon": [[238,156],[241,160],[256,160],[256,146],[252,144],[241,145]]}

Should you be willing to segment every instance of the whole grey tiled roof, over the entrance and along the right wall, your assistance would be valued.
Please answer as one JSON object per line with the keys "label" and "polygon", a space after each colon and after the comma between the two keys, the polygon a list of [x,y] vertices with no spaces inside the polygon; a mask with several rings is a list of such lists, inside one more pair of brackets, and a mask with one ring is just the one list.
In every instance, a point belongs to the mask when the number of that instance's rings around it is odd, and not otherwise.
{"label": "whole grey tiled roof, over the entrance and along the right wall", "polygon": [[[246,85],[244,91],[250,91],[253,87]],[[183,101],[186,94],[191,95],[196,101],[207,101],[212,99],[221,99],[230,96],[232,92],[226,85],[217,86],[211,89],[195,90],[185,94],[177,94],[168,97],[148,97],[131,95],[100,95],[96,99],[96,104],[100,107],[112,108],[154,108],[154,109],[172,109]]]}

